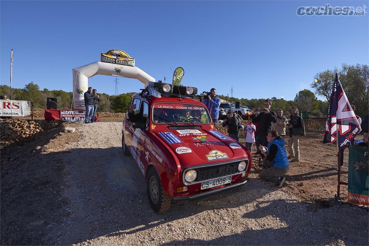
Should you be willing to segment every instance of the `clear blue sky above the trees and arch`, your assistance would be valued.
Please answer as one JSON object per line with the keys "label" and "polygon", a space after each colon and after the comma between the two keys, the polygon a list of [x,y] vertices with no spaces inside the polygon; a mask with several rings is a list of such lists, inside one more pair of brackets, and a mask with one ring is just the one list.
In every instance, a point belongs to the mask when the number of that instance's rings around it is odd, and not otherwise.
{"label": "clear blue sky above the trees and arch", "polygon": [[[137,67],[171,83],[238,98],[293,99],[320,71],[368,62],[368,16],[297,16],[299,6],[368,6],[368,1],[0,1],[0,84],[34,81],[72,91],[72,69],[122,49]],[[368,12],[368,8],[366,9]],[[113,95],[115,77],[89,86]],[[120,78],[119,93],[143,84]],[[319,99],[323,99],[319,97]]]}

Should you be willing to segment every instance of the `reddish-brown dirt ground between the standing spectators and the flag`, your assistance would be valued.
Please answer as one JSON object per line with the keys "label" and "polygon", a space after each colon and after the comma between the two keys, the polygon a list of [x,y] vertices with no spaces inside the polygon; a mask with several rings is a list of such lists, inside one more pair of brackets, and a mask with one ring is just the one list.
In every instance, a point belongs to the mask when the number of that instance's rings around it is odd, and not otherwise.
{"label": "reddish-brown dirt ground between the standing spectators and the flag", "polygon": [[[244,136],[240,139],[245,143]],[[324,133],[306,131],[306,136],[300,138],[300,162],[290,163],[290,171],[286,175],[285,185],[292,194],[304,201],[322,203],[324,199],[332,199],[337,194],[337,171],[332,168],[337,163],[337,146],[323,144]],[[358,137],[356,137],[358,138]],[[286,150],[288,151],[286,139]],[[261,172],[258,166],[259,155],[255,155],[253,145],[253,165],[251,170]],[[348,151],[344,152],[344,168],[341,169],[341,181],[347,182]],[[347,186],[341,185],[342,201],[347,201]]]}

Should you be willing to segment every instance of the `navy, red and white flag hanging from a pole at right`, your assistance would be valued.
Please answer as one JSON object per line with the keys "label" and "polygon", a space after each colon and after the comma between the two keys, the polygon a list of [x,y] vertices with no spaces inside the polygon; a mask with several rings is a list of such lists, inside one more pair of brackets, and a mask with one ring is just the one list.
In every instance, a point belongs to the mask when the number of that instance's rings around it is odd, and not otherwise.
{"label": "navy, red and white flag hanging from a pole at right", "polygon": [[[346,144],[350,144],[350,141],[355,138],[360,130],[358,119],[355,116],[354,110],[352,110],[341,82],[339,82],[338,75],[336,74],[329,101],[323,143],[334,143],[342,147]],[[337,131],[338,143],[336,142]]]}

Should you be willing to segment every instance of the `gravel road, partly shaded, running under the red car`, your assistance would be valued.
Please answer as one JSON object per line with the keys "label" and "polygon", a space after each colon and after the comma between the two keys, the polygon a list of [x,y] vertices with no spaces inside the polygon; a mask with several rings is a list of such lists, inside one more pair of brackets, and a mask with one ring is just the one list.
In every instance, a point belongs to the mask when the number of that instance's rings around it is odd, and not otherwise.
{"label": "gravel road, partly shaded, running under the red car", "polygon": [[366,209],[322,209],[257,174],[244,189],[155,214],[123,156],[121,122],[73,127],[1,152],[17,163],[1,172],[1,245],[368,245]]}

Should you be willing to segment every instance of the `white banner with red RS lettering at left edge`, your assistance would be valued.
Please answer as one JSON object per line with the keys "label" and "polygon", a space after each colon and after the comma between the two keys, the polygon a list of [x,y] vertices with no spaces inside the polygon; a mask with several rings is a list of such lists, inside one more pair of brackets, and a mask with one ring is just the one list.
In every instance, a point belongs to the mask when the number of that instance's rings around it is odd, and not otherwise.
{"label": "white banner with red RS lettering at left edge", "polygon": [[30,101],[0,100],[0,116],[25,117],[30,115]]}

